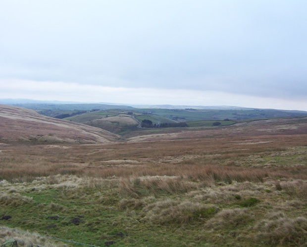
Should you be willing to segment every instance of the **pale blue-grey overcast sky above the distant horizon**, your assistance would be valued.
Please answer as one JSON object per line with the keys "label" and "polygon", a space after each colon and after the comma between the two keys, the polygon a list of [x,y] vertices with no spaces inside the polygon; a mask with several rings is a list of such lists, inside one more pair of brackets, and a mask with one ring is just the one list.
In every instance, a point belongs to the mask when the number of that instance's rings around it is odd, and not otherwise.
{"label": "pale blue-grey overcast sky above the distant horizon", "polygon": [[306,0],[0,0],[0,98],[307,111]]}

